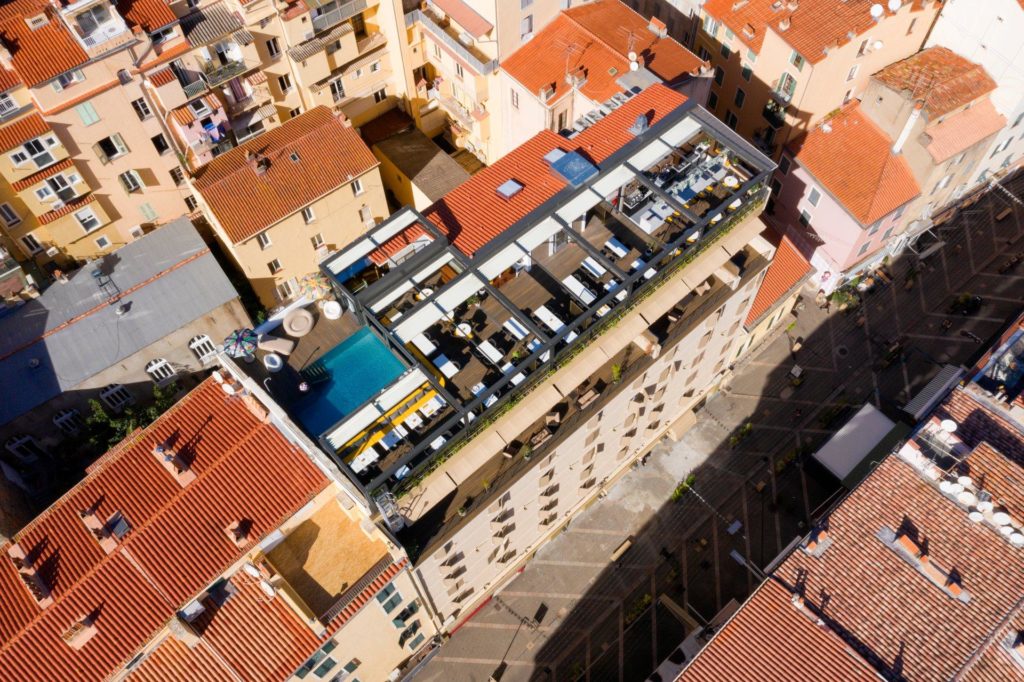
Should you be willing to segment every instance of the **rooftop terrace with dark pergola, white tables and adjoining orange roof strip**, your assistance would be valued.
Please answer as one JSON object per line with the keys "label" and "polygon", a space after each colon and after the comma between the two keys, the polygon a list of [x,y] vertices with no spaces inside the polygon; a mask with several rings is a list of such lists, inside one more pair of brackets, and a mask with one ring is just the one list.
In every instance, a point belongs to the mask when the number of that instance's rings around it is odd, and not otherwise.
{"label": "rooftop terrace with dark pergola, white tables and adjoining orange roof strip", "polygon": [[[573,138],[538,135],[425,214],[399,211],[323,269],[409,369],[314,435],[368,489],[400,492],[760,207],[771,168],[655,87]],[[737,282],[745,257],[715,274]]]}

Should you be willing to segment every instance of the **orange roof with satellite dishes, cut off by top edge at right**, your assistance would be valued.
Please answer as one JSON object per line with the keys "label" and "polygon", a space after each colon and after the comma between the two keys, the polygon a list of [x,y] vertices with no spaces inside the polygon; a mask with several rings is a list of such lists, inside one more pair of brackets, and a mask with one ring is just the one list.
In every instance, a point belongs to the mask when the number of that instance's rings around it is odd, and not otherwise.
{"label": "orange roof with satellite dishes, cut off by top edge at right", "polygon": [[[874,26],[869,12],[870,6],[877,4],[874,0],[800,0],[799,4],[793,3],[796,9],[790,9],[790,3],[781,0],[777,10],[773,4],[775,0],[708,0],[703,10],[730,28],[755,52],[761,51],[770,30],[811,63],[825,58],[826,47],[845,45]],[[884,7],[886,3],[878,4]],[[921,11],[925,4],[914,0],[911,10]],[[938,13],[938,4],[929,11]],[[890,15],[892,12],[886,10],[886,16]],[[788,28],[780,29],[779,24],[786,20]]]}

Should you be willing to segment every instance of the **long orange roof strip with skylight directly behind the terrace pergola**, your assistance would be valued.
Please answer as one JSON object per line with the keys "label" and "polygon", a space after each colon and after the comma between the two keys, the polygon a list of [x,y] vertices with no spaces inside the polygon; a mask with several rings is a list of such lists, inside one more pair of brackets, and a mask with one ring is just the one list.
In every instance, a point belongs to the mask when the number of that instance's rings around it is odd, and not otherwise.
{"label": "long orange roof strip with skylight directly behind the terrace pergola", "polygon": [[[555,148],[579,151],[600,164],[633,139],[629,128],[639,115],[644,114],[649,123],[655,123],[685,101],[684,95],[656,84],[571,140],[542,130],[432,204],[424,211],[424,216],[437,225],[457,249],[472,256],[566,186],[561,177],[551,172],[544,155]],[[498,187],[509,179],[522,183],[523,189],[506,200],[498,195]],[[382,263],[387,256],[424,233],[422,226],[413,224],[370,257]]]}

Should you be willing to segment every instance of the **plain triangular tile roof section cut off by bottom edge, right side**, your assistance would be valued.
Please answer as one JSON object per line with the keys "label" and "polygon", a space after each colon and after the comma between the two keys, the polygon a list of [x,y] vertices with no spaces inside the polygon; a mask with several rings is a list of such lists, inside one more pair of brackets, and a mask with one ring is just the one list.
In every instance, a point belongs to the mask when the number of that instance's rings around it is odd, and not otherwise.
{"label": "plain triangular tile roof section cut off by bottom edge, right side", "polygon": [[[799,655],[785,655],[790,651]],[[769,579],[677,679],[877,682],[879,678],[835,632],[818,626],[806,609],[798,609],[790,590]]]}

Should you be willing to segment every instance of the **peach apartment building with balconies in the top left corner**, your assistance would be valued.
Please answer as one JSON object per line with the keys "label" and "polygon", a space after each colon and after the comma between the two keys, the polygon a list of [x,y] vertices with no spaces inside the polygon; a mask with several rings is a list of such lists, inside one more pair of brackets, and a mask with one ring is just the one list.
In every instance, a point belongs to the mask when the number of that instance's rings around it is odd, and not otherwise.
{"label": "peach apartment building with balconies in the top left corner", "polygon": [[161,3],[8,3],[3,219],[27,258],[69,268],[186,210],[135,72],[145,30],[173,20]]}

